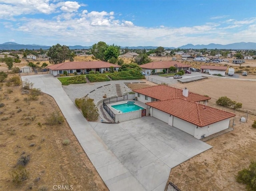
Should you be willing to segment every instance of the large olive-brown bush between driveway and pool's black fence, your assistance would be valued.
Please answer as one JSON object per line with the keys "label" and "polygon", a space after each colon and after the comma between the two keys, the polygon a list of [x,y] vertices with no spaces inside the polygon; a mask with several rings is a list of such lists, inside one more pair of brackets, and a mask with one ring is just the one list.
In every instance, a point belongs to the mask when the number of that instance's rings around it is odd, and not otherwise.
{"label": "large olive-brown bush between driveway and pool's black fence", "polygon": [[98,108],[96,107],[96,105],[93,102],[93,99],[91,98],[83,98],[81,110],[83,116],[88,121],[96,121],[99,117]]}

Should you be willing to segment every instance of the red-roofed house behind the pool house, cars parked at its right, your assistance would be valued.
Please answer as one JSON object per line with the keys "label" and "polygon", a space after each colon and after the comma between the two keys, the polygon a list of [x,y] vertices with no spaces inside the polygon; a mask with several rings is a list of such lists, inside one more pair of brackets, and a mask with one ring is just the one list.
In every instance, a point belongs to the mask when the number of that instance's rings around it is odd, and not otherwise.
{"label": "red-roofed house behind the pool house, cars parked at its right", "polygon": [[146,75],[150,75],[153,69],[155,70],[155,73],[162,72],[163,69],[166,69],[166,72],[168,72],[168,69],[171,66],[177,67],[178,71],[188,70],[188,68],[190,67],[190,65],[186,65],[177,61],[157,61],[140,65],[142,71]]}

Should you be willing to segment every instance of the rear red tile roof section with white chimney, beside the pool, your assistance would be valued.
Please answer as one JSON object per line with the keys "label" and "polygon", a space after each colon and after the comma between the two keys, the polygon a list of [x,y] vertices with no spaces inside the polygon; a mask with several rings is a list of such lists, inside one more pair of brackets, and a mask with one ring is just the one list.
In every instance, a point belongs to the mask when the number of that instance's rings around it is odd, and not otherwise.
{"label": "rear red tile roof section with white chimney, beside the pool", "polygon": [[158,100],[167,100],[174,98],[181,98],[184,100],[198,102],[210,99],[210,97],[202,96],[196,93],[188,91],[188,97],[182,95],[183,90],[177,89],[170,86],[158,85],[152,87],[146,87],[142,89],[133,90],[134,92],[140,93],[142,95],[147,95],[149,97],[158,99]]}

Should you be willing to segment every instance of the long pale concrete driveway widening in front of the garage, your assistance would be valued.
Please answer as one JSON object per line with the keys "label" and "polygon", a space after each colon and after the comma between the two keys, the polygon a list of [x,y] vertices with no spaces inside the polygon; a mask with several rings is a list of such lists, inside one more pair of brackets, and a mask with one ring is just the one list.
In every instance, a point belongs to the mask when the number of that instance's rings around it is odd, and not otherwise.
{"label": "long pale concrete driveway widening in front of the garage", "polygon": [[211,148],[153,117],[119,124],[87,122],[58,79],[49,74],[24,79],[54,97],[110,191],[163,191],[172,167]]}

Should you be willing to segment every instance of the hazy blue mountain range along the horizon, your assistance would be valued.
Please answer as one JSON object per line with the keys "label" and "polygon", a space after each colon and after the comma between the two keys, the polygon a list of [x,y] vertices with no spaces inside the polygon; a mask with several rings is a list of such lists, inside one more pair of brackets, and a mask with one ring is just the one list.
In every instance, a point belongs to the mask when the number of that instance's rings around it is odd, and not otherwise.
{"label": "hazy blue mountain range along the horizon", "polygon": [[[20,50],[20,49],[49,49],[51,46],[46,45],[37,45],[37,44],[18,44],[14,42],[6,42],[0,44],[0,50]],[[89,49],[90,46],[81,46],[81,45],[75,45],[75,46],[69,46],[70,49]],[[126,47],[121,47],[126,48]],[[137,47],[127,47],[128,49],[156,49],[157,46],[137,46]],[[175,47],[164,47],[165,49],[176,49]],[[193,44],[187,44],[180,47],[177,47],[180,49],[232,49],[232,50],[255,50],[256,49],[256,43],[255,42],[239,42],[239,43],[232,43],[232,44],[214,44],[210,43],[208,45],[193,45]]]}

